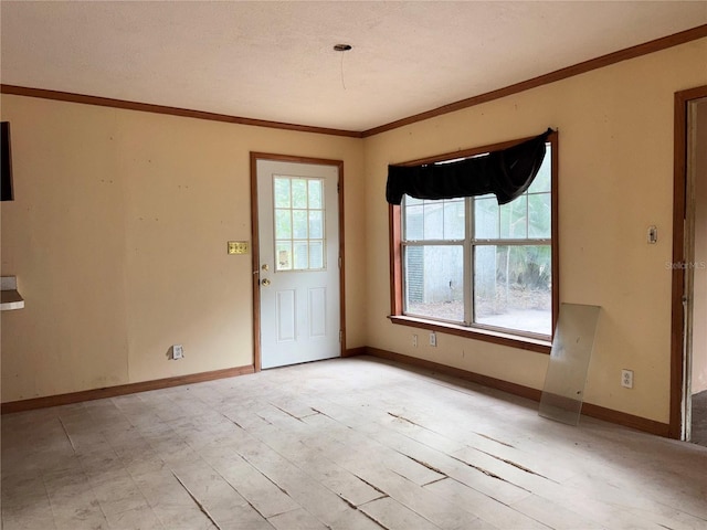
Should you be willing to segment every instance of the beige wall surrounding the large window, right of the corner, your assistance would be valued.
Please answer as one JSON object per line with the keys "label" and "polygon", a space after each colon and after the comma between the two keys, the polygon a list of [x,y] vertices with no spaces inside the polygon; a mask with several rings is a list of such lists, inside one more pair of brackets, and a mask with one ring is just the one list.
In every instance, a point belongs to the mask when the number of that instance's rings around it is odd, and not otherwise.
{"label": "beige wall surrounding the large window, right of the corner", "polygon": [[[585,400],[668,421],[673,96],[707,84],[707,40],[366,140],[368,344],[541,389],[548,357],[392,325],[387,165],[559,129],[561,301],[601,306]],[[646,244],[650,225],[659,242]],[[426,341],[421,341],[425,344]],[[634,370],[634,389],[620,385]]]}

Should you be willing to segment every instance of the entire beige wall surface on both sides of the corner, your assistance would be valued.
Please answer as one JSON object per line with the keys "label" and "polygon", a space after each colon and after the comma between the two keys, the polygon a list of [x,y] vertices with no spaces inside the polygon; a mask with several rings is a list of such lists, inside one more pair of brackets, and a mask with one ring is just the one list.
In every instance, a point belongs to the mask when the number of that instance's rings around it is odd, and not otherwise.
{"label": "entire beige wall surface on both sides of the corner", "polygon": [[551,126],[561,300],[603,308],[585,399],[667,422],[673,95],[707,84],[705,56],[695,41],[366,140],[2,96],[2,274],[27,299],[2,314],[2,401],[252,362],[250,256],[224,252],[250,239],[251,150],[345,161],[348,348],[540,389],[547,356],[444,333],[412,348],[422,330],[390,324],[384,184],[390,162]]}

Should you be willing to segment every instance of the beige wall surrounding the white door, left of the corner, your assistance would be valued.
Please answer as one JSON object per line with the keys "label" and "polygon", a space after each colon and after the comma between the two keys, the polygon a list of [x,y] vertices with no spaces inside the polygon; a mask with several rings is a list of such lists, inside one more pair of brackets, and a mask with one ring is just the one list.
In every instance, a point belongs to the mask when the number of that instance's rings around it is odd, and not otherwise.
{"label": "beige wall surrounding the white door, left of the corner", "polygon": [[[250,151],[345,163],[347,347],[366,343],[362,141],[3,95],[2,401],[253,362]],[[186,358],[167,360],[173,343]]]}

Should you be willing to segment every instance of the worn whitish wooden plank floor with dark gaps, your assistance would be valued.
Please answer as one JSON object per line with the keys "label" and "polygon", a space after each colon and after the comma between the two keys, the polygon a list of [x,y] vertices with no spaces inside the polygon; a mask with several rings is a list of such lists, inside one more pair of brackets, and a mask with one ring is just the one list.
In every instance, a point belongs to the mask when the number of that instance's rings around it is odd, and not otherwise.
{"label": "worn whitish wooden plank floor with dark gaps", "polygon": [[707,448],[370,358],[2,417],[2,528],[705,529]]}

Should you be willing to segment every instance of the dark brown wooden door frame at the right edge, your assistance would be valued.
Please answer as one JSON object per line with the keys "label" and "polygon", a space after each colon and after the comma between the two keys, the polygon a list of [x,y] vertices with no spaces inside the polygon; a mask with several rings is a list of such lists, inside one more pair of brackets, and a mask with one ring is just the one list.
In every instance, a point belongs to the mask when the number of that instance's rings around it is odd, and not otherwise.
{"label": "dark brown wooden door frame at the right edge", "polygon": [[[686,271],[676,266],[685,262],[687,221],[687,112],[689,102],[707,97],[707,85],[675,93],[674,100],[674,160],[673,160],[673,287],[671,295],[671,418],[668,436],[682,439],[685,433],[685,396],[687,367],[692,352],[686,349],[684,297]],[[689,330],[688,332],[692,332]]]}

